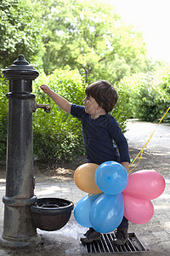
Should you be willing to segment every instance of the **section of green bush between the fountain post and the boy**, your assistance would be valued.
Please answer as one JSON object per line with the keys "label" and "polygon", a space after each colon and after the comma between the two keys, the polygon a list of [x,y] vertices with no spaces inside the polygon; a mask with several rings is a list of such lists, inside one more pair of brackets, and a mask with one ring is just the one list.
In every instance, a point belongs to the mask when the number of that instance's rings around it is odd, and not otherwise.
{"label": "section of green bush between the fountain post and the boy", "polygon": [[58,108],[39,88],[41,84],[48,84],[69,102],[81,105],[85,84],[82,83],[82,77],[77,70],[71,71],[69,67],[65,67],[64,70],[55,70],[48,77],[41,73],[33,90],[37,103],[48,103],[51,106],[50,113],[37,109],[33,114],[35,156],[39,160],[50,162],[73,160],[77,155],[84,153],[81,123]]}

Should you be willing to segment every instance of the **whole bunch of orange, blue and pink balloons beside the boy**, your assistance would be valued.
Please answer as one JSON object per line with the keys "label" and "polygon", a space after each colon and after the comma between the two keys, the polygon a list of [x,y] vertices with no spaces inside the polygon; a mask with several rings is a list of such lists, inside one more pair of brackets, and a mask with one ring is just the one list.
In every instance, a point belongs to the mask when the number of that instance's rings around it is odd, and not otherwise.
{"label": "whole bunch of orange, blue and pink balloons beside the boy", "polygon": [[100,233],[115,230],[123,216],[134,224],[150,221],[154,214],[150,200],[165,189],[165,180],[158,172],[144,170],[128,176],[115,161],[100,166],[83,164],[77,167],[74,180],[79,189],[88,193],[77,202],[75,219]]}

